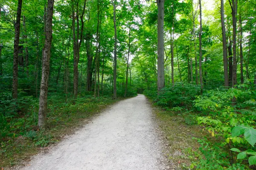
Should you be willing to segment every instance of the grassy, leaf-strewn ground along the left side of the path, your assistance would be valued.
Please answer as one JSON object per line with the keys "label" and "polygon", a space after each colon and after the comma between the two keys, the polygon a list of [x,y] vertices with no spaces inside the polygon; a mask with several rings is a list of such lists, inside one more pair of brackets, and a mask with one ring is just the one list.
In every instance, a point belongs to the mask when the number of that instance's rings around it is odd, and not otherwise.
{"label": "grassy, leaf-strewn ground along the left side of the path", "polygon": [[73,134],[85,123],[90,123],[92,116],[121,99],[112,100],[108,96],[94,99],[88,95],[78,98],[76,104],[62,100],[48,102],[47,127],[44,130],[38,130],[36,126],[37,107],[33,108],[35,113],[28,112],[15,118],[15,123],[10,125],[9,134],[0,139],[0,167],[26,164],[32,155],[47,152],[52,144]]}

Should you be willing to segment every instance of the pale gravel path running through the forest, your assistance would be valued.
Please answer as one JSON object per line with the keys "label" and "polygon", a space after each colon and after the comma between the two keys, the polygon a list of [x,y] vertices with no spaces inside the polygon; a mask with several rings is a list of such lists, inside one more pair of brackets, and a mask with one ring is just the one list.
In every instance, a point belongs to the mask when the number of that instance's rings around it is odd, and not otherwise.
{"label": "pale gravel path running through the forest", "polygon": [[164,170],[161,142],[144,95],[107,109],[22,170]]}

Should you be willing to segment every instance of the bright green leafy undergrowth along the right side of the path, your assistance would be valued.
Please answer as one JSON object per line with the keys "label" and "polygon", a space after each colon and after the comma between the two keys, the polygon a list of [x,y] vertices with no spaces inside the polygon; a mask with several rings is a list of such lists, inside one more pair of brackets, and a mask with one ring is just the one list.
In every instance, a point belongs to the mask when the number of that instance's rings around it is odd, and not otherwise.
{"label": "bright green leafy undergrowth along the right side of the path", "polygon": [[[163,88],[158,96],[156,90],[145,91],[145,95],[166,112],[166,126],[173,128],[171,124],[177,117],[188,127],[201,126],[201,129],[194,129],[187,136],[199,146],[188,146],[183,150],[185,157],[190,158],[190,164],[183,168],[256,168],[256,90],[253,83],[247,82],[230,89],[220,87],[204,90],[202,95],[197,85],[175,84],[175,87]],[[197,130],[204,135],[193,135],[198,133]],[[166,133],[169,134],[168,131]],[[189,149],[191,151],[187,152]]]}

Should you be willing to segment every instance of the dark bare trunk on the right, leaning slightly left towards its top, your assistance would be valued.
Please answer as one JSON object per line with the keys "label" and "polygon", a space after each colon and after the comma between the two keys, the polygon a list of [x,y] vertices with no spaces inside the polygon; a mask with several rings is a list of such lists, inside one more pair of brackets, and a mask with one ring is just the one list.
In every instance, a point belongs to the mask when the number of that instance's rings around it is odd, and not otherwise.
{"label": "dark bare trunk on the right, leaning slightly left towards its top", "polygon": [[222,46],[223,46],[223,63],[224,63],[224,86],[228,87],[228,68],[227,68],[227,38],[224,22],[224,0],[221,0],[221,30],[222,30]]}

